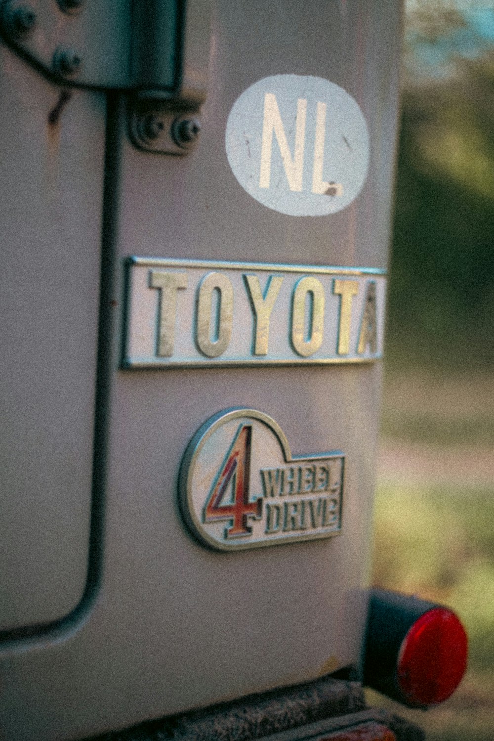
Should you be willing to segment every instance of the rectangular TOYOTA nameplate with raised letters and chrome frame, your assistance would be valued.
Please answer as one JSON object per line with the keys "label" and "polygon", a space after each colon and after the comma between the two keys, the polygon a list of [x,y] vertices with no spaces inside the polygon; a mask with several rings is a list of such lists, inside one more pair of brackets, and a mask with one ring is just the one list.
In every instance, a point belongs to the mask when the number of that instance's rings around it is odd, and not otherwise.
{"label": "rectangular TOYOTA nameplate with raised letters and chrome frame", "polygon": [[122,365],[373,362],[385,290],[377,268],[131,257]]}

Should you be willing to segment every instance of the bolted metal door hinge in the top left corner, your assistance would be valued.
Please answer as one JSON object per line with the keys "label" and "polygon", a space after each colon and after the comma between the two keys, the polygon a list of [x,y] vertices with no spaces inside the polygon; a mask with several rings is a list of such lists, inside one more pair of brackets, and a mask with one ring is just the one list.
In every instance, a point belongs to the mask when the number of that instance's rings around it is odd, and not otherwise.
{"label": "bolted metal door hinge in the top left corner", "polygon": [[1,34],[73,87],[123,90],[142,149],[187,153],[207,93],[212,0],[4,0]]}

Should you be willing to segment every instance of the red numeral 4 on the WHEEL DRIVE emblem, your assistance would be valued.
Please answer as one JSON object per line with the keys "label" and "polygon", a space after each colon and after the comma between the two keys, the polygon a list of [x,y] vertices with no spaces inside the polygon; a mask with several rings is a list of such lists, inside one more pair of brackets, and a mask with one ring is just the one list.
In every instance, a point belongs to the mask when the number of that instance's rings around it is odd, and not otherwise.
{"label": "red numeral 4 on the WHEEL DRIVE emblem", "polygon": [[[252,528],[247,524],[248,519],[260,519],[262,515],[262,497],[249,502],[251,444],[252,427],[241,425],[204,507],[204,522],[230,520],[232,524],[225,528],[225,538],[250,535]],[[222,504],[229,490],[233,491],[233,501]]]}

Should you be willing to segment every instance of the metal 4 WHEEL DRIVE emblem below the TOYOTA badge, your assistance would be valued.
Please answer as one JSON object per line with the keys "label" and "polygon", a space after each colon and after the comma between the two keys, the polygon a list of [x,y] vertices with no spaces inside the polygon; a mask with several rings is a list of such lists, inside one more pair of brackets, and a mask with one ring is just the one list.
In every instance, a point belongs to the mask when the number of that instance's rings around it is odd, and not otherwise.
{"label": "metal 4 WHEEL DRIVE emblem below the TOYOTA badge", "polygon": [[202,425],[178,476],[181,513],[220,551],[310,540],[341,531],[344,456],[292,456],[283,431],[253,409],[227,409]]}

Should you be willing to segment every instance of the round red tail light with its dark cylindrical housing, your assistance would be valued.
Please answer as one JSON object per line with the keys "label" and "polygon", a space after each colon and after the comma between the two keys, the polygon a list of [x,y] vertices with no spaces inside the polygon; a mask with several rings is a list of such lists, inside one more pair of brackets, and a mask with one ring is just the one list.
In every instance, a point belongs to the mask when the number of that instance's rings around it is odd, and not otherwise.
{"label": "round red tail light with its dark cylindrical housing", "polygon": [[375,590],[370,597],[364,682],[413,707],[438,705],[467,668],[467,634],[447,608]]}

